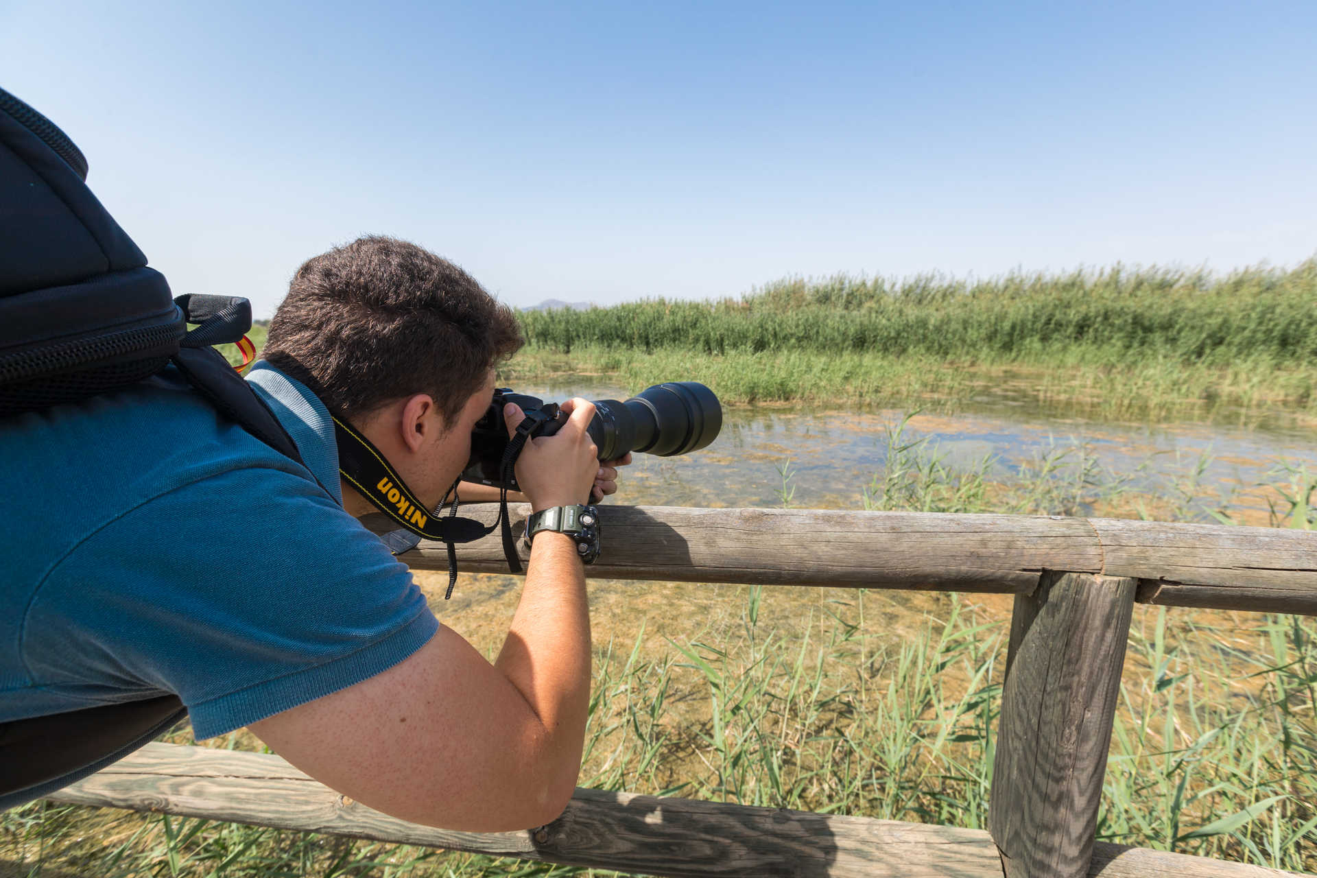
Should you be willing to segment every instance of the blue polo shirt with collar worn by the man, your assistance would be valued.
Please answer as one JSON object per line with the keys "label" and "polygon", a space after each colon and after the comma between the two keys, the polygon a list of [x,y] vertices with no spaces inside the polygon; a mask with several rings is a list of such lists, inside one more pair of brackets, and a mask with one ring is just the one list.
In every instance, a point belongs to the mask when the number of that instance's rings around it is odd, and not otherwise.
{"label": "blue polo shirt with collar worn by the man", "polygon": [[439,623],[344,512],[325,407],[249,376],[306,467],[171,370],[0,420],[0,721],[179,695],[198,738],[373,677]]}

